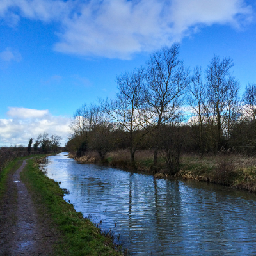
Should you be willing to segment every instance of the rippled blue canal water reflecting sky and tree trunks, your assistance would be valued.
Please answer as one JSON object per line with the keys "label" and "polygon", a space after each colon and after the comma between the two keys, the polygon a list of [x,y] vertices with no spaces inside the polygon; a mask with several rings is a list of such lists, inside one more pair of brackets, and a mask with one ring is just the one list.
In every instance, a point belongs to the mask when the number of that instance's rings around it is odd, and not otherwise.
{"label": "rippled blue canal water reflecting sky and tree trunks", "polygon": [[254,194],[77,164],[67,153],[49,156],[44,168],[68,189],[67,202],[102,221],[132,255],[256,255]]}

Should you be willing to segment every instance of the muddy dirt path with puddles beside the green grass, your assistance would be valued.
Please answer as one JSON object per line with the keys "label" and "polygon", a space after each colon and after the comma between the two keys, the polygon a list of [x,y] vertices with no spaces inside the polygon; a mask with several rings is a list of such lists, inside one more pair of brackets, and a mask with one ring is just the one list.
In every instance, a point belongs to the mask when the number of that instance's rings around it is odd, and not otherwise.
{"label": "muddy dirt path with puddles beside the green grass", "polygon": [[38,219],[36,205],[20,180],[22,166],[8,177],[0,208],[0,255],[52,255],[54,234]]}

